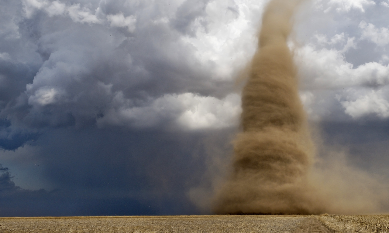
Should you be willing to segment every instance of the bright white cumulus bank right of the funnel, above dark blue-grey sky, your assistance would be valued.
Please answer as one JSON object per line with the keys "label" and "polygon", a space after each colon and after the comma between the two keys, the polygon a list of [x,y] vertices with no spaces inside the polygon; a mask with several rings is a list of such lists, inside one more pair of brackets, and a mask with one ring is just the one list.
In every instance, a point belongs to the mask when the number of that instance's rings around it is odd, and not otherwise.
{"label": "bright white cumulus bank right of the funnel, above dark blue-grey sky", "polygon": [[[325,36],[316,38],[319,45],[332,43]],[[330,117],[331,112],[336,110],[336,103],[340,103],[342,111],[353,118],[367,115],[389,117],[385,95],[389,85],[387,56],[382,56],[380,62],[372,61],[354,67],[346,61],[347,46],[350,43],[340,50],[317,49],[310,43],[295,50],[304,83],[300,97],[308,115],[312,119],[320,119],[324,115]],[[354,43],[352,46],[355,46]]]}

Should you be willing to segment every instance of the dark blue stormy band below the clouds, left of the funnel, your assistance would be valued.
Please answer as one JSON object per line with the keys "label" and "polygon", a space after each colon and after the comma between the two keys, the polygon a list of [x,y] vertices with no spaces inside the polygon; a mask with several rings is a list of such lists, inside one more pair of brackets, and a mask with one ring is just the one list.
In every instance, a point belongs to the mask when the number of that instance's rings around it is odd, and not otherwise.
{"label": "dark blue stormy band below the clouds, left of the funnel", "polygon": [[[18,205],[4,216],[203,213],[207,210],[199,210],[192,202],[198,198],[197,202],[203,202],[202,193],[192,197],[188,193],[196,186],[201,186],[200,191],[207,188],[204,182],[210,177],[204,174],[213,165],[210,160],[218,156],[215,148],[220,150],[232,133],[51,130],[36,141],[28,158],[19,157],[23,160],[19,163],[39,163],[42,177],[59,190],[23,190],[15,187],[7,174],[14,194],[3,200],[10,202],[4,205],[11,208],[19,201],[28,207],[23,212]],[[207,143],[209,137],[213,141],[219,137],[218,146]],[[229,147],[218,153],[228,158],[228,151]],[[226,162],[228,159],[222,163]],[[218,174],[212,171],[207,175]],[[64,210],[58,210],[61,208]]]}

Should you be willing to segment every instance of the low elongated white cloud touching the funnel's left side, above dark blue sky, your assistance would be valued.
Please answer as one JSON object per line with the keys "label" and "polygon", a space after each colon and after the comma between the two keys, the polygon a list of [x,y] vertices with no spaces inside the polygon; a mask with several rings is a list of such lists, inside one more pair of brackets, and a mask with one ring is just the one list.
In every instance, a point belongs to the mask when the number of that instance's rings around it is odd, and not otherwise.
{"label": "low elongated white cloud touching the funnel's left side, above dark blue sky", "polygon": [[189,130],[221,129],[237,125],[241,112],[237,94],[230,94],[224,99],[193,93],[166,94],[143,106],[125,107],[123,103],[132,103],[125,100],[122,93],[117,93],[114,101],[119,103],[119,108],[112,108],[99,118],[97,122],[100,127],[155,127],[167,122]]}

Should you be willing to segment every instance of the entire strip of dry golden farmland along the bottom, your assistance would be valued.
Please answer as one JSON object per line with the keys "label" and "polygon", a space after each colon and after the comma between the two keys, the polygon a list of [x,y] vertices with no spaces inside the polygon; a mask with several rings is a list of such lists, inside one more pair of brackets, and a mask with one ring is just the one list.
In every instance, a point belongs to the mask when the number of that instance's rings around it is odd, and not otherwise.
{"label": "entire strip of dry golden farmland along the bottom", "polygon": [[388,227],[389,215],[0,218],[0,233],[366,233]]}

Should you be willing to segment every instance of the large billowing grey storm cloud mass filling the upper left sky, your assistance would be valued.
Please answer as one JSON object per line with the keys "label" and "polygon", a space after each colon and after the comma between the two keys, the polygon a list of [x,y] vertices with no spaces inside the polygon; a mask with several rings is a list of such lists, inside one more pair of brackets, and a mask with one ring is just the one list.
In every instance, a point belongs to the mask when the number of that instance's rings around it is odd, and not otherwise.
{"label": "large billowing grey storm cloud mass filling the upper left sky", "polygon": [[[185,1],[175,6],[172,20],[188,21],[189,27],[206,5]],[[225,96],[221,93],[230,82],[209,82],[209,70],[191,56],[195,49],[165,21],[174,7],[149,6],[128,1],[101,1],[96,8],[58,1],[17,5],[16,40],[35,44],[30,56],[39,54],[44,62],[39,71],[24,63],[10,64],[10,71],[2,66],[4,72],[18,72],[4,75],[5,84],[14,84],[13,89],[3,85],[3,117],[32,128],[83,127],[108,111],[149,105],[166,94]],[[191,7],[199,10],[192,14]]]}

